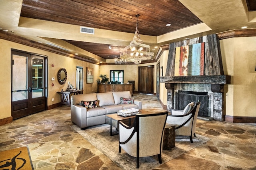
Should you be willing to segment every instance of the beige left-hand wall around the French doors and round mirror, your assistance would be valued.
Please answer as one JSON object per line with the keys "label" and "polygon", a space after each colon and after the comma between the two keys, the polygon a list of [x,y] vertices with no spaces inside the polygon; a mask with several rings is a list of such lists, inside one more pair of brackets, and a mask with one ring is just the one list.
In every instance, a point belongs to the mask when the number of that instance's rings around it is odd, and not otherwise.
{"label": "beige left-hand wall around the French doors and round mirror", "polygon": [[[47,56],[48,106],[60,103],[60,95],[56,92],[61,89],[66,90],[68,81],[73,86],[76,86],[76,66],[82,66],[84,70],[84,93],[97,92],[96,80],[100,72],[100,67],[98,65],[0,39],[0,87],[2,96],[2,101],[0,102],[0,119],[11,116],[11,49]],[[54,67],[52,67],[52,64],[54,64]],[[92,84],[86,84],[86,67],[94,68],[95,76],[94,83]],[[57,79],[58,70],[60,68],[66,68],[68,73],[68,80],[63,85],[60,85]],[[55,78],[54,81],[51,80],[52,77]],[[54,86],[52,86],[52,83],[54,83]],[[52,98],[54,98],[54,101],[52,101]]]}

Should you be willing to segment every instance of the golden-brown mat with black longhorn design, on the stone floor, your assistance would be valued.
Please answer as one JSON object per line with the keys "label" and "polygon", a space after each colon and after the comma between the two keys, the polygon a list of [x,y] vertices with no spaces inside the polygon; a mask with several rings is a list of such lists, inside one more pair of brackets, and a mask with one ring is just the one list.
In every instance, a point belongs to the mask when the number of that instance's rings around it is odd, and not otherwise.
{"label": "golden-brown mat with black longhorn design, on the stone floor", "polygon": [[34,170],[28,147],[0,152],[0,170]]}

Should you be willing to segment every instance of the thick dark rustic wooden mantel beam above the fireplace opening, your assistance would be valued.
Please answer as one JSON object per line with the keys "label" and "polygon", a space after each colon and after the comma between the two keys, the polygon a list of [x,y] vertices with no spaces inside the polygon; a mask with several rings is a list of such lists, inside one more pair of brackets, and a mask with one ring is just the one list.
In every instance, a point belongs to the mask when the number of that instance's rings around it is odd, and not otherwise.
{"label": "thick dark rustic wooden mantel beam above the fireplace opening", "polygon": [[160,83],[230,84],[231,76],[161,76]]}

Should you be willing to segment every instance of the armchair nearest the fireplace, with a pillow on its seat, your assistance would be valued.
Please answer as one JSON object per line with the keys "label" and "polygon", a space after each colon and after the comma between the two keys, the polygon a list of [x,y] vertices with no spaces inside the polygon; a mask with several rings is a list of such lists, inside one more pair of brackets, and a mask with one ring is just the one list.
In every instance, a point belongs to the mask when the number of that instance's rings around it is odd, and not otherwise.
{"label": "armchair nearest the fireplace, with a pillow on its seat", "polygon": [[196,119],[200,107],[200,102],[191,102],[184,110],[172,109],[172,114],[168,115],[166,123],[176,125],[176,135],[189,136],[193,143],[192,135],[196,137]]}

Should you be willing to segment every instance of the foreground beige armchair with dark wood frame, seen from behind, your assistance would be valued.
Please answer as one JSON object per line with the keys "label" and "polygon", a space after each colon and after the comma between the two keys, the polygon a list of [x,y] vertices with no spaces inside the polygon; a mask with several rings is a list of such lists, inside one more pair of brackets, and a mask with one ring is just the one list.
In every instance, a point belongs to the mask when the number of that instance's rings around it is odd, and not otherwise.
{"label": "foreground beige armchair with dark wood frame, seen from behind", "polygon": [[119,152],[121,148],[137,159],[158,155],[162,163],[162,139],[168,111],[161,113],[136,114],[134,124],[130,127],[119,124]]}

